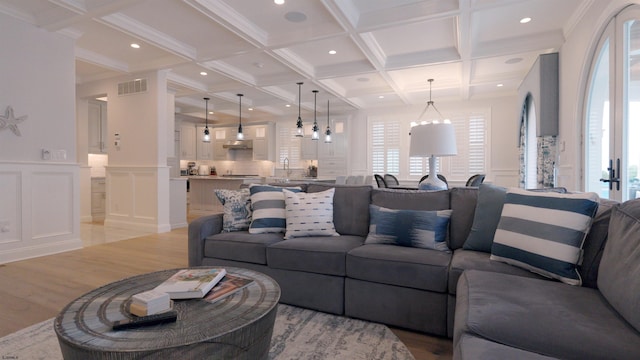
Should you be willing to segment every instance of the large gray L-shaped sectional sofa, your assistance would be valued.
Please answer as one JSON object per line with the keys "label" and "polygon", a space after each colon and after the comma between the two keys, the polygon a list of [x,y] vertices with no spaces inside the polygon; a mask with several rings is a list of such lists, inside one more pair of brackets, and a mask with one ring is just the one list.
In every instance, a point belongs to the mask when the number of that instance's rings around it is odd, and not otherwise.
{"label": "large gray L-shaped sectional sofa", "polygon": [[[601,330],[607,334],[591,342],[600,347],[600,352],[592,354],[640,358],[637,314],[628,319],[610,299],[620,297],[619,306],[626,310],[635,306],[637,313],[640,285],[633,283],[640,284],[640,231],[631,234],[636,247],[627,250],[636,257],[624,265],[624,271],[635,276],[629,278],[633,286],[625,282],[625,292],[616,282],[610,296],[598,290],[604,277],[614,280],[610,269],[602,274],[598,270],[603,252],[605,262],[613,251],[605,244],[611,214],[619,211],[615,202],[600,201],[578,268],[583,286],[572,286],[491,260],[490,253],[464,248],[474,224],[478,188],[429,192],[301,186],[308,193],[335,188],[333,220],[340,236],[285,240],[282,233],[221,232],[222,214],[204,216],[189,225],[189,265],[257,270],[280,284],[283,303],[453,337],[455,357],[460,359],[585,358],[580,335],[593,337]],[[390,209],[451,209],[447,244],[452,251],[365,244],[370,204]],[[615,266],[622,271],[623,265]],[[514,308],[520,313],[507,311]],[[593,311],[598,316],[592,317]],[[565,326],[557,328],[564,336],[550,330],[557,324]]]}

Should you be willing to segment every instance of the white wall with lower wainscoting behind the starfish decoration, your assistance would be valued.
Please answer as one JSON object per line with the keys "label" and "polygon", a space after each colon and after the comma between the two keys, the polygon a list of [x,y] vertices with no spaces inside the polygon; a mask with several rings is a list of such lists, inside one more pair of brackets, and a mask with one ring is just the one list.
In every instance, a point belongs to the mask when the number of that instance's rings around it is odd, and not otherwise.
{"label": "white wall with lower wainscoting behind the starfish decoration", "polygon": [[[0,14],[0,263],[81,247],[73,40]],[[52,158],[42,159],[42,149]]]}

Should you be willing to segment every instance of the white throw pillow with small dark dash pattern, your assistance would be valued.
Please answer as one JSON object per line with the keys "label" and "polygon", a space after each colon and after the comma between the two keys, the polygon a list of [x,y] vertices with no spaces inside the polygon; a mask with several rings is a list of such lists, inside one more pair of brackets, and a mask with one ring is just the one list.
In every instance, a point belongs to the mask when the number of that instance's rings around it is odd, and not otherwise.
{"label": "white throw pillow with small dark dash pattern", "polygon": [[333,195],[336,189],[295,193],[284,190],[287,231],[285,239],[302,236],[340,236],[333,225]]}

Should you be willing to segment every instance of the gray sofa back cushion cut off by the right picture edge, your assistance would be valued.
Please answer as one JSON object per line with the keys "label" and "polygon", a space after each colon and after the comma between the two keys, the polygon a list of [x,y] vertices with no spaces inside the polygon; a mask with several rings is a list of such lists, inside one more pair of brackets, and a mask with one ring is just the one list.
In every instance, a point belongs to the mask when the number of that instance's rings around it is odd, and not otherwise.
{"label": "gray sofa back cushion cut off by the right picture edge", "polygon": [[613,308],[640,331],[640,199],[613,208],[598,287]]}

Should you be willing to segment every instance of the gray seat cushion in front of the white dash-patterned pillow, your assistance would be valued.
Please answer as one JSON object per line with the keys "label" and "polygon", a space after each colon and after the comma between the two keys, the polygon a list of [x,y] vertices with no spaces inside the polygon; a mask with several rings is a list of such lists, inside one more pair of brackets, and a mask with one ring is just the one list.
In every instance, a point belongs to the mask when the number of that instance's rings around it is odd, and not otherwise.
{"label": "gray seat cushion in front of the white dash-patterned pillow", "polygon": [[267,263],[273,269],[345,276],[347,252],[362,245],[361,236],[301,237],[267,248]]}

